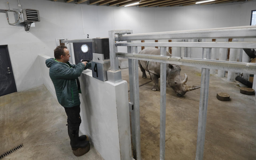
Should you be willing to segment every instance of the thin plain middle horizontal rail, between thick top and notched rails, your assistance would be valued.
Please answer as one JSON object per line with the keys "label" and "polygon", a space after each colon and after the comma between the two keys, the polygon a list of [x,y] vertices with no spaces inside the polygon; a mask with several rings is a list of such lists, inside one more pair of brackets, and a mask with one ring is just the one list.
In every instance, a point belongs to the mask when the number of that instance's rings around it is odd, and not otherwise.
{"label": "thin plain middle horizontal rail, between thick top and notched rails", "polygon": [[204,47],[204,48],[256,48],[256,42],[163,42],[116,43],[116,46]]}

